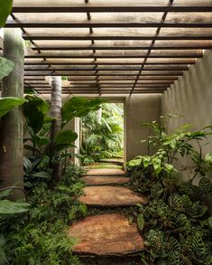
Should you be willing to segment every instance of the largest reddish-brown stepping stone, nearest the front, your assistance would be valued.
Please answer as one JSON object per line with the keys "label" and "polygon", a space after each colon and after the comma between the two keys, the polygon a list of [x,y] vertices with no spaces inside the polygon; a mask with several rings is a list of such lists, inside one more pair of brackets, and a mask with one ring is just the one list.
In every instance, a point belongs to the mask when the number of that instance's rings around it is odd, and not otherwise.
{"label": "largest reddish-brown stepping stone, nearest the front", "polygon": [[89,216],[69,228],[78,240],[73,251],[83,255],[124,256],[143,251],[144,242],[136,224],[120,214]]}

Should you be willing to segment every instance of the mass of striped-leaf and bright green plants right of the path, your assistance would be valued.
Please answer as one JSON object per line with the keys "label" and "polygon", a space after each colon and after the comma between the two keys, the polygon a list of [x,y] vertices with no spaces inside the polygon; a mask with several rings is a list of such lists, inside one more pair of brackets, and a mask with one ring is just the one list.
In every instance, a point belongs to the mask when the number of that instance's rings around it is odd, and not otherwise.
{"label": "mass of striped-leaf and bright green plants right of the path", "polygon": [[[155,152],[127,165],[134,190],[149,199],[148,205],[133,209],[146,246],[142,264],[212,264],[212,155],[203,156],[201,147],[211,127],[189,131],[183,126],[168,135],[155,121],[142,126],[152,128],[154,135],[147,142]],[[173,166],[180,156],[192,161],[193,174],[186,182]]]}

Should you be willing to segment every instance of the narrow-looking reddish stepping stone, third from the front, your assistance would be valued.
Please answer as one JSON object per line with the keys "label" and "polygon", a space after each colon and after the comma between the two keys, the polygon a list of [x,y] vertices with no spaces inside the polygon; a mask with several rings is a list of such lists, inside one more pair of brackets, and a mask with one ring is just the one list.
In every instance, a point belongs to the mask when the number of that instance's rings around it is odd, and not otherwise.
{"label": "narrow-looking reddish stepping stone, third from the front", "polygon": [[86,185],[106,185],[106,184],[127,184],[130,182],[129,177],[125,176],[113,176],[113,175],[90,175],[90,176],[84,176],[81,178],[81,180]]}

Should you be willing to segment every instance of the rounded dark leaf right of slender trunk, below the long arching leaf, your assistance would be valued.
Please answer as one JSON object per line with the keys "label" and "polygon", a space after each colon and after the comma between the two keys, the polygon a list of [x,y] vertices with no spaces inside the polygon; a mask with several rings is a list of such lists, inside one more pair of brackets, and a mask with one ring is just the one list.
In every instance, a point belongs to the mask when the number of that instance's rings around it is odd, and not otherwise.
{"label": "rounded dark leaf right of slender trunk, below the long arching leaf", "polygon": [[78,134],[70,129],[60,131],[55,139],[57,150],[62,150],[66,147],[74,147],[73,142],[77,138]]}

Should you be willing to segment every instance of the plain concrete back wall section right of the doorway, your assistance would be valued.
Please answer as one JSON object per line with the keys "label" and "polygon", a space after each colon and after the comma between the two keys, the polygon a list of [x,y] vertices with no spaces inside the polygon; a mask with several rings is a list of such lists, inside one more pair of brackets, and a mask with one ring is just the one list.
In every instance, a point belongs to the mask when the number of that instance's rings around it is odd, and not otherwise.
{"label": "plain concrete back wall section right of the doorway", "polygon": [[132,95],[125,101],[126,118],[126,160],[138,155],[147,155],[147,145],[141,140],[151,131],[140,128],[142,122],[159,120],[161,115],[161,94]]}

